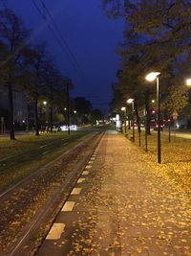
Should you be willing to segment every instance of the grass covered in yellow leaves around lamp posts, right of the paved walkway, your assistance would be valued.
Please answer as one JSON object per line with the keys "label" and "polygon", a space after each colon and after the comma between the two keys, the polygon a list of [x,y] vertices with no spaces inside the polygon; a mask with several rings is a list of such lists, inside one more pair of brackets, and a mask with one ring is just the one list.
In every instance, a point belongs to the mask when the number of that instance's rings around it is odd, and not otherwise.
{"label": "grass covered in yellow leaves around lamp posts, right of the paved walkway", "polygon": [[[127,130],[127,138],[132,136],[132,130]],[[138,130],[136,130],[135,146],[142,152],[142,157],[159,175],[168,179],[171,183],[179,186],[186,192],[191,189],[191,140],[171,137],[161,132],[161,164],[158,164],[157,133],[148,135],[148,152],[145,152],[145,132],[141,131],[140,147],[138,141]]]}

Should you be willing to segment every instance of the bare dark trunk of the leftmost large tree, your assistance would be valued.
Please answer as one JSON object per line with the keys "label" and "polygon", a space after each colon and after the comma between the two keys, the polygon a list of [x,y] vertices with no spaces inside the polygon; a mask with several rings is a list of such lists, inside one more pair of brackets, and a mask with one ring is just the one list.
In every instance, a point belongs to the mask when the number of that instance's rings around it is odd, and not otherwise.
{"label": "bare dark trunk of the leftmost large tree", "polygon": [[12,85],[11,83],[8,84],[9,89],[9,107],[10,107],[10,138],[11,140],[15,140],[14,137],[14,109],[13,109],[13,97],[12,97]]}

